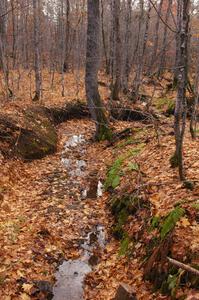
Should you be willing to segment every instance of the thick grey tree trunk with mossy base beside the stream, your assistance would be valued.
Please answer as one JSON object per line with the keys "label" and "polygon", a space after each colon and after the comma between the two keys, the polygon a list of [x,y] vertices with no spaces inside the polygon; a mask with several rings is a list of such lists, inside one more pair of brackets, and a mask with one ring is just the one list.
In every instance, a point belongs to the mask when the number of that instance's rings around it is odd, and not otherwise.
{"label": "thick grey tree trunk with mossy base beside the stream", "polygon": [[100,9],[99,0],[87,0],[87,52],[86,52],[86,96],[91,116],[96,125],[96,139],[111,138],[108,120],[98,91],[98,69],[100,62],[99,36],[100,36]]}

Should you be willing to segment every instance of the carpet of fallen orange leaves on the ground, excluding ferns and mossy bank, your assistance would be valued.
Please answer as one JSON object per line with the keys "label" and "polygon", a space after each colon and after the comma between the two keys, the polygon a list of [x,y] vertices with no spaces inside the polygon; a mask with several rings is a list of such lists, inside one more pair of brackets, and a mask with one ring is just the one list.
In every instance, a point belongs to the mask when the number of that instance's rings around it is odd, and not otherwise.
{"label": "carpet of fallen orange leaves on the ground, excluding ferns and mossy bank", "polygon": [[[56,80],[51,92],[47,75],[44,80],[46,106],[61,105],[76,99],[77,94],[85,99],[83,81],[77,81],[76,76],[66,77],[64,98],[58,90],[59,78]],[[23,84],[16,99],[4,103],[2,111],[12,114],[31,104],[29,87]],[[108,89],[101,87],[100,91],[107,99]],[[166,216],[177,203],[197,204],[199,200],[198,139],[191,140],[186,132],[186,176],[194,182],[190,190],[180,183],[177,170],[170,166],[175,147],[172,123],[172,117],[163,116],[158,128],[141,122],[114,122],[115,131],[130,127],[132,133],[110,146],[93,141],[95,128],[90,120],[71,120],[57,126],[59,143],[55,154],[28,163],[0,157],[0,299],[46,299],[46,290],[39,289],[38,282],[54,284],[57,267],[63,260],[82,255],[82,239],[97,225],[104,226],[106,244],[95,249],[98,263],[86,277],[84,299],[113,299],[120,282],[133,286],[137,299],[171,299],[153,292],[151,283],[143,280],[144,248],[152,235],[143,224],[149,222],[146,218]],[[81,135],[82,142],[76,148],[66,149],[74,135]],[[136,156],[126,156],[132,149],[136,149]],[[111,193],[104,191],[102,197],[94,199],[81,197],[82,190],[99,180],[106,181],[108,167],[124,156],[127,160],[123,161],[114,195],[136,189],[150,204],[150,216],[140,210],[129,216],[125,225],[129,235],[142,235],[135,238],[130,255],[119,255],[121,242],[112,234],[114,218],[108,205]],[[83,174],[74,174],[76,161],[84,162]],[[186,205],[188,214],[177,222],[172,246],[172,254],[182,262],[186,262],[187,251],[199,253],[198,215]],[[197,290],[186,285],[176,293],[177,299],[185,295],[185,299],[199,299]],[[195,298],[191,298],[193,295]]]}

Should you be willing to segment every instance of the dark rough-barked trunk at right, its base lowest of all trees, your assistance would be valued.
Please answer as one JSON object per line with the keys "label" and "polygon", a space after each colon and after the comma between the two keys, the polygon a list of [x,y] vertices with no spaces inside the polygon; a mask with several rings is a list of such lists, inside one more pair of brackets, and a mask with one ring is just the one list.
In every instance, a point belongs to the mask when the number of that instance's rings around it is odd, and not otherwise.
{"label": "dark rough-barked trunk at right, its base lowest of all trees", "polygon": [[176,141],[176,151],[175,159],[179,167],[180,180],[185,180],[184,168],[183,168],[183,139],[186,126],[186,85],[187,85],[187,75],[188,75],[188,34],[189,34],[189,5],[190,0],[178,0],[181,2],[180,10],[178,10],[178,35],[177,45],[178,57],[177,57],[177,97],[176,97],[176,107],[175,107],[175,120],[174,120],[174,130],[175,130],[175,141]]}

